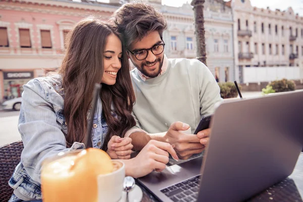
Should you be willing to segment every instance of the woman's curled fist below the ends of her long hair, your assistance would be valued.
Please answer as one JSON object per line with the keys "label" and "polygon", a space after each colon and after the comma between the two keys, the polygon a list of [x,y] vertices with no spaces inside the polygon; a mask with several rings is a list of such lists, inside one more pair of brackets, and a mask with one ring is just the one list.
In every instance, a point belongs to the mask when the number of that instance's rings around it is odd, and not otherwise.
{"label": "woman's curled fist below the ends of her long hair", "polygon": [[114,135],[108,143],[107,153],[112,159],[130,159],[132,148],[131,138]]}

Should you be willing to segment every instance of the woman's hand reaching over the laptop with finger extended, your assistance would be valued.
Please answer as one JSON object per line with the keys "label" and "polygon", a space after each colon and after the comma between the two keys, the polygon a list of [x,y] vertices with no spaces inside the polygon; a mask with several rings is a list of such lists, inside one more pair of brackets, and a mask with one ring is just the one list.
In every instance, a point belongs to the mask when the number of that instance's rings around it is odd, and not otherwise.
{"label": "woman's hand reaching over the laptop with finger extended", "polygon": [[169,154],[171,154],[174,159],[179,160],[171,144],[150,140],[135,158],[129,160],[131,162],[124,161],[132,167],[132,171],[127,173],[137,178],[145,176],[154,170],[161,172],[166,168],[166,164],[169,162]]}

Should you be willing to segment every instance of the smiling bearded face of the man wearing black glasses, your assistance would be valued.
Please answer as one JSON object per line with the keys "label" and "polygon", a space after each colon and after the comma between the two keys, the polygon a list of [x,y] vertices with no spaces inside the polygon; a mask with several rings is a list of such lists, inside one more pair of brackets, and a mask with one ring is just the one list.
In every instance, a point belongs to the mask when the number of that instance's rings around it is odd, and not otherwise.
{"label": "smiling bearded face of the man wearing black glasses", "polygon": [[[163,41],[159,32],[153,31],[142,38],[142,40],[134,42],[129,50],[135,53],[160,43],[163,43]],[[163,65],[164,52],[155,56],[151,51],[148,51],[147,58],[144,60],[137,60],[131,53],[128,53],[128,55],[134,66],[145,76],[154,78],[160,74]]]}

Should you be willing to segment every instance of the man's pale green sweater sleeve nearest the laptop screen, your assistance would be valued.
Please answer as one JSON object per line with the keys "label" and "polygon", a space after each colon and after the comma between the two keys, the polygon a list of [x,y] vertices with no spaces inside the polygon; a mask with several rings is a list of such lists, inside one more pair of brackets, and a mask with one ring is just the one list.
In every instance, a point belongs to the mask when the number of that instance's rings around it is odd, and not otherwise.
{"label": "man's pale green sweater sleeve nearest the laptop screen", "polygon": [[218,106],[218,103],[221,103],[223,99],[220,95],[220,87],[209,68],[201,62],[198,63],[200,115],[205,116],[213,114],[216,106]]}

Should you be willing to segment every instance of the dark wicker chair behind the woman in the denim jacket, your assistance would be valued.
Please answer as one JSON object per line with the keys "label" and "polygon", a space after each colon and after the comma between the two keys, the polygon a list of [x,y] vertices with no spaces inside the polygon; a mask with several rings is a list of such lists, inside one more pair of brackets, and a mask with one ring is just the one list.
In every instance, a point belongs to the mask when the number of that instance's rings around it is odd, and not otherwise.
{"label": "dark wicker chair behind the woman in the denim jacket", "polygon": [[0,146],[0,201],[8,201],[13,194],[8,182],[20,162],[22,150],[22,141]]}

